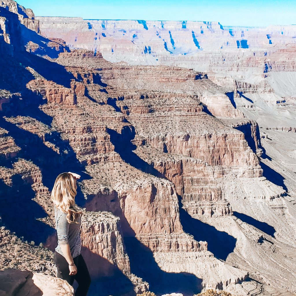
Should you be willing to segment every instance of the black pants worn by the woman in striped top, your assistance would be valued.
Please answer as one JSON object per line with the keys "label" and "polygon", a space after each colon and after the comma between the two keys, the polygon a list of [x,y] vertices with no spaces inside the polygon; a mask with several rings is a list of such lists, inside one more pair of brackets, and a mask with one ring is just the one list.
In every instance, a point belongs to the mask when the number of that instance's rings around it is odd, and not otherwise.
{"label": "black pants worn by the woman in striped top", "polygon": [[75,296],[86,296],[91,283],[89,271],[81,254],[73,258],[73,261],[77,267],[77,274],[70,276],[67,260],[58,252],[54,252],[54,263],[57,266],[57,277],[66,280],[71,286],[73,286],[74,280],[76,280],[78,288],[75,292]]}

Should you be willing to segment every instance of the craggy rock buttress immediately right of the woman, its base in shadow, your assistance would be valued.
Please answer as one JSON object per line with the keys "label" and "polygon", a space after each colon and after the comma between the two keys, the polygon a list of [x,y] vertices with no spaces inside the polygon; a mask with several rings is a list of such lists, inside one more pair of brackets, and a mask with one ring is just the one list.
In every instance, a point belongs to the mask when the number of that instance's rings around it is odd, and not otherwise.
{"label": "craggy rock buttress immediately right of the woman, its base in shadow", "polygon": [[104,277],[115,277],[118,284],[121,278],[126,279],[131,283],[131,287],[126,287],[127,293],[142,293],[149,289],[149,283],[131,272],[118,217],[105,211],[86,212],[81,237],[82,254],[93,281],[91,291],[100,288],[99,279]]}

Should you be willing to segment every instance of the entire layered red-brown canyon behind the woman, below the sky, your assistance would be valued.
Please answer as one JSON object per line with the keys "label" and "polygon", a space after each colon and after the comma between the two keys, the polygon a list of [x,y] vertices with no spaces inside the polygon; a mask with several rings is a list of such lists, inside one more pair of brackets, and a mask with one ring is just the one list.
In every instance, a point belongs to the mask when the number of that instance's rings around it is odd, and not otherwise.
{"label": "entire layered red-brown canyon behind the woman, below the sky", "polygon": [[2,274],[55,275],[73,171],[89,295],[295,295],[295,36],[0,1]]}

